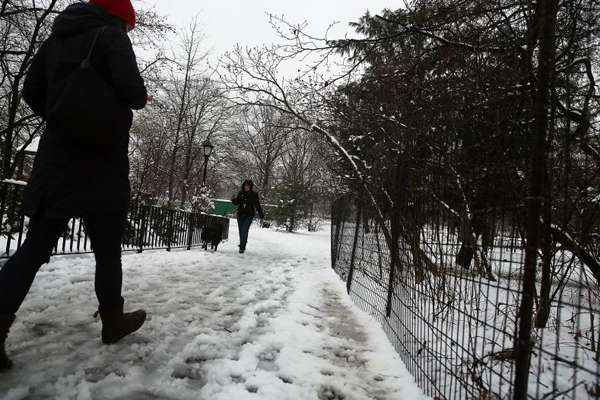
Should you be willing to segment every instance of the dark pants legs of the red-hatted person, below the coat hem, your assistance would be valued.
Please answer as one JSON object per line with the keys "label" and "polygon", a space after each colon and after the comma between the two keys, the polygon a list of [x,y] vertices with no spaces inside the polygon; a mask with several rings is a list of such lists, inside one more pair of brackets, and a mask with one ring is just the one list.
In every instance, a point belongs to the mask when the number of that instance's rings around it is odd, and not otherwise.
{"label": "dark pants legs of the red-hatted person, below the coat hem", "polygon": [[[29,224],[27,238],[0,270],[0,314],[14,315],[21,307],[40,267],[50,261],[68,218],[36,217]],[[83,218],[96,256],[96,296],[101,309],[123,304],[121,286],[121,238],[123,214]]]}

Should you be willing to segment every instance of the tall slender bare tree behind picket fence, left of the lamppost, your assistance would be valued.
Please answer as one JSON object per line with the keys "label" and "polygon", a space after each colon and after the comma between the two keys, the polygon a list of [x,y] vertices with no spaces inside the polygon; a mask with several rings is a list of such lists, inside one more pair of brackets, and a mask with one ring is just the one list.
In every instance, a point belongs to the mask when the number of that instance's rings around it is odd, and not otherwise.
{"label": "tall slender bare tree behind picket fence, left of the lamppost", "polygon": [[[207,68],[207,51],[197,19],[180,37],[180,49],[156,73],[153,105],[135,130],[133,162],[140,193],[185,205],[202,186],[206,139],[218,140],[229,120],[223,88]],[[145,137],[148,135],[148,137]],[[154,176],[155,179],[150,179]]]}

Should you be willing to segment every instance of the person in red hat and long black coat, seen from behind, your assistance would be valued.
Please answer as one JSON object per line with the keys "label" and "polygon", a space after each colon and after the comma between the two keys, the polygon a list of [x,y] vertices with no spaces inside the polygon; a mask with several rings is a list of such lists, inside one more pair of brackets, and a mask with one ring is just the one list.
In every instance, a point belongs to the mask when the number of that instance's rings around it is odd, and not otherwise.
{"label": "person in red hat and long black coat, seen from behind", "polygon": [[[55,19],[51,36],[33,58],[23,97],[46,120],[46,131],[25,192],[24,210],[30,217],[27,239],[0,270],[0,371],[12,366],[5,340],[15,314],[71,217],[83,219],[96,257],[103,342],[115,343],[139,329],[146,319],[143,310],[123,313],[121,297],[121,239],[130,197],[131,110],[141,109],[147,102],[127,36],[134,26],[130,0],[78,2]],[[101,148],[74,143],[61,131],[60,121],[47,118],[62,82],[86,57],[96,34],[92,66],[114,89],[122,111],[114,120],[114,132],[107,132],[117,139]],[[94,93],[89,97],[93,101]]]}

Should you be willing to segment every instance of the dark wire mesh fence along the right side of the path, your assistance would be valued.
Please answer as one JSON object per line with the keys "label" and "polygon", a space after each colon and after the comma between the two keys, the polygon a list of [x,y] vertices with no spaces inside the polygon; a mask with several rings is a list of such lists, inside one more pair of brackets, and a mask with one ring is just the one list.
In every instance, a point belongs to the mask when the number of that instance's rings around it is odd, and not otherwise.
{"label": "dark wire mesh fence along the right side of the path", "polygon": [[417,222],[396,238],[397,262],[369,210],[350,198],[333,205],[333,268],[426,394],[513,399],[516,376],[526,374],[526,399],[600,398],[598,281],[561,246],[540,251],[531,367],[516,367],[525,257],[519,206],[476,211],[487,223],[467,238],[451,209],[414,205]]}

